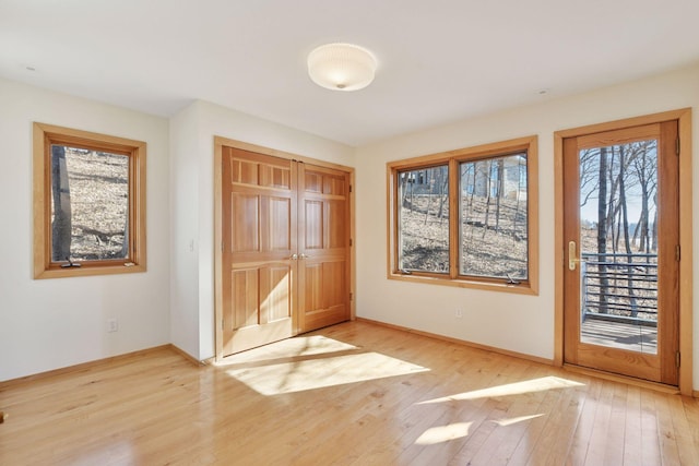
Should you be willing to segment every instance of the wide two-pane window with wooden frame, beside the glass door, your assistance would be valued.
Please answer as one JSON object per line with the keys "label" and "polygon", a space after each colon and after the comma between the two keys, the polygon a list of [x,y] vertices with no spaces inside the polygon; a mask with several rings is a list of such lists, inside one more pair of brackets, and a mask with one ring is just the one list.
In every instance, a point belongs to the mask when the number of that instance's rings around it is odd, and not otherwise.
{"label": "wide two-pane window with wooden frame, beside the glass door", "polygon": [[389,163],[389,276],[537,292],[536,169],[536,136]]}

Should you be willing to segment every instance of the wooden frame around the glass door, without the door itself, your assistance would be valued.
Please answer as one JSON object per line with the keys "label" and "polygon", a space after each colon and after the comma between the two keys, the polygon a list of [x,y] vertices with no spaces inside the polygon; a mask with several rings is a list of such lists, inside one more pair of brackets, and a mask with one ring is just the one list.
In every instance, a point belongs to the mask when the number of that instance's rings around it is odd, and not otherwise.
{"label": "wooden frame around the glass door, without the door itself", "polygon": [[679,392],[692,395],[692,211],[691,211],[691,108],[664,111],[556,131],[554,133],[554,198],[555,198],[555,307],[554,365],[564,365],[564,139],[583,134],[618,130],[641,124],[677,120],[679,146]]}

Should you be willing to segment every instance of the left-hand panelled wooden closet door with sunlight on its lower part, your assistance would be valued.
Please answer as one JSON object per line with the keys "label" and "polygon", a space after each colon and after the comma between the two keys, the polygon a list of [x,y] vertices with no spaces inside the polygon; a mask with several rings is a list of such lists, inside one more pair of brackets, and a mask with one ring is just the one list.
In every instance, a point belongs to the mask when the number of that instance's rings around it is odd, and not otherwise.
{"label": "left-hand panelled wooden closet door with sunlight on its lower part", "polygon": [[223,356],[296,333],[296,180],[292,160],[223,147]]}

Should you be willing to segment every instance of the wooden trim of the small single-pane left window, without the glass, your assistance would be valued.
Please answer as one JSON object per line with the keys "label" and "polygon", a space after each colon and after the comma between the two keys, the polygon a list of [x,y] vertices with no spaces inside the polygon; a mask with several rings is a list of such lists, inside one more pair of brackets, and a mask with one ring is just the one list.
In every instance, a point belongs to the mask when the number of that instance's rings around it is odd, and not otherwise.
{"label": "wooden trim of the small single-pane left window, without the glass", "polygon": [[[127,155],[129,164],[129,258],[84,261],[81,267],[61,268],[51,262],[50,146],[71,145]],[[33,124],[34,278],[126,274],[146,271],[145,236],[146,144],[125,138],[52,124]]]}

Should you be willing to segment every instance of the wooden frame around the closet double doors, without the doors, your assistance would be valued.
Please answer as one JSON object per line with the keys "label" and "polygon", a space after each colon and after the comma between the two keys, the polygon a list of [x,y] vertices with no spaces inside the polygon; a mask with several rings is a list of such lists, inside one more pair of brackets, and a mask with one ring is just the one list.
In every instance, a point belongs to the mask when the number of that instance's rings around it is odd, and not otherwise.
{"label": "wooden frame around the closet double doors, without the doors", "polygon": [[223,159],[223,147],[235,147],[242,151],[254,152],[258,154],[269,155],[272,157],[284,158],[287,160],[303,162],[309,165],[320,167],[334,168],[350,174],[350,292],[353,299],[350,300],[350,320],[356,316],[355,294],[355,201],[354,201],[354,168],[345,165],[333,164],[331,162],[319,160],[303,155],[292,154],[289,152],[279,151],[275,148],[264,147],[261,145],[250,144],[244,141],[232,140],[214,135],[214,342],[215,342],[215,360],[224,359],[223,354],[223,330],[218,322],[223,319],[223,256],[221,253],[221,244],[223,243],[223,172],[221,163]]}

